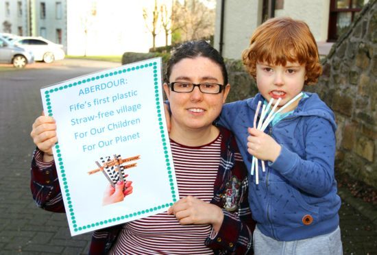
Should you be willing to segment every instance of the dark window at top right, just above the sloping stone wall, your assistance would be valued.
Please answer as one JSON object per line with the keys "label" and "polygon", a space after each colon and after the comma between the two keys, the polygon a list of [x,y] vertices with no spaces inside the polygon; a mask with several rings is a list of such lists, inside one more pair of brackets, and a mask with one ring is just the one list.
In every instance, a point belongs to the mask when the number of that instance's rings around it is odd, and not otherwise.
{"label": "dark window at top right, just above the sloping stone wall", "polygon": [[347,31],[355,14],[361,11],[364,0],[330,0],[330,19],[328,22],[328,41],[334,42]]}

